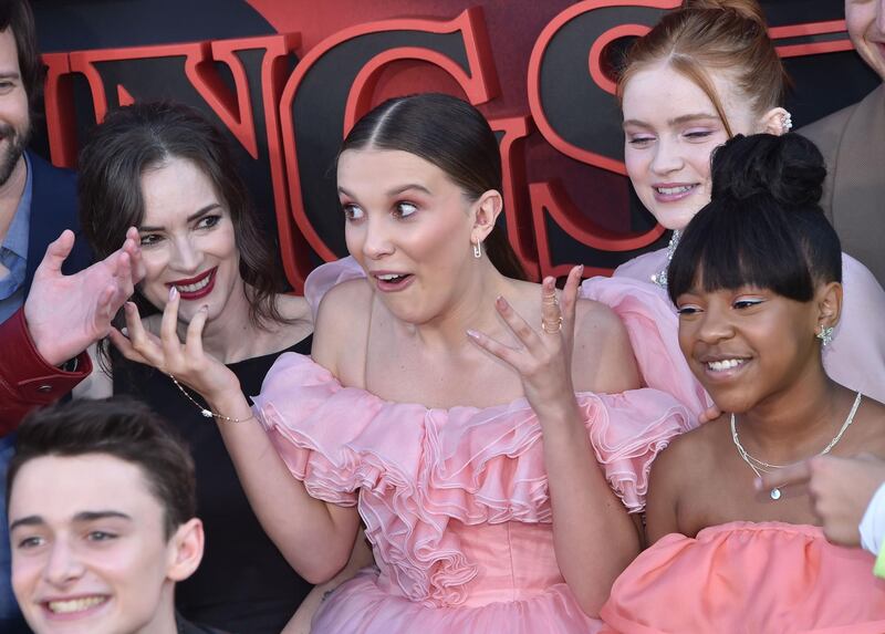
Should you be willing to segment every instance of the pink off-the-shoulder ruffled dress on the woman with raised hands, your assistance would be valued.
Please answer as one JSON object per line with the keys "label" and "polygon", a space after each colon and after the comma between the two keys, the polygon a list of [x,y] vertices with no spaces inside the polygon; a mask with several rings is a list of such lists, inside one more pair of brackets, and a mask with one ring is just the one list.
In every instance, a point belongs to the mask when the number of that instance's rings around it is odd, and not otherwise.
{"label": "pink off-the-shoulder ruffled dress on the woman with raised hands", "polygon": [[[650,462],[687,429],[688,412],[653,389],[576,397],[608,482],[639,511]],[[524,398],[487,408],[392,403],[289,353],[254,402],[292,475],[315,498],[356,506],[375,553],[377,570],[340,586],[313,632],[601,626],[556,565],[541,428]]]}

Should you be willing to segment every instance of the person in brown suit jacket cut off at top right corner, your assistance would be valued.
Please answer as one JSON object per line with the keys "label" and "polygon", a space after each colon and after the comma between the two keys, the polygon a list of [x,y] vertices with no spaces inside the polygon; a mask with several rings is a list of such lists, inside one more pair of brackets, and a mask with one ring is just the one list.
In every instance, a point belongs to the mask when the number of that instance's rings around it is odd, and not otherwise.
{"label": "person in brown suit jacket cut off at top right corner", "polygon": [[[845,0],[845,22],[857,53],[885,81],[885,0]],[[799,133],[826,160],[821,204],[842,248],[885,285],[885,84]]]}

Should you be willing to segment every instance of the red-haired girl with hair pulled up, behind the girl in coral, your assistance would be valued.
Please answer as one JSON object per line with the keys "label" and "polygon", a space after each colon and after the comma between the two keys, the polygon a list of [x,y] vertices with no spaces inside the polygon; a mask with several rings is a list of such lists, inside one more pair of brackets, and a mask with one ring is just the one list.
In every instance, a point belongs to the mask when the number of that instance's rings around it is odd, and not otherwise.
{"label": "red-haired girl with hair pulled up, behind the girl in coral", "polygon": [[[667,249],[639,256],[584,297],[623,319],[645,383],[695,414],[707,395],[679,354],[666,293],[667,262],[688,221],[710,199],[710,153],[736,134],[790,129],[788,77],[756,0],[688,0],[628,50],[618,82],[624,159],[636,194],[667,229]],[[830,376],[885,399],[885,292],[843,257],[844,310],[823,362]]]}

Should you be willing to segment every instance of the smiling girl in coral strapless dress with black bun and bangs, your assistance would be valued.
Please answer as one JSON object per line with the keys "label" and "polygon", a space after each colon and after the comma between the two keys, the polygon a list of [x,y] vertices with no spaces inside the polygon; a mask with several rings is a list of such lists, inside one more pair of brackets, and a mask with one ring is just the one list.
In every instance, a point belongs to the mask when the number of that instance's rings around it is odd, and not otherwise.
{"label": "smiling girl in coral strapless dress with black bun and bangs", "polygon": [[683,353],[722,414],[652,466],[653,545],[602,611],[616,632],[885,632],[873,557],[829,543],[806,491],[759,482],[819,455],[885,457],[885,406],[822,363],[843,308],[824,176],[798,135],[737,136],[714,154],[711,201],[667,290]]}

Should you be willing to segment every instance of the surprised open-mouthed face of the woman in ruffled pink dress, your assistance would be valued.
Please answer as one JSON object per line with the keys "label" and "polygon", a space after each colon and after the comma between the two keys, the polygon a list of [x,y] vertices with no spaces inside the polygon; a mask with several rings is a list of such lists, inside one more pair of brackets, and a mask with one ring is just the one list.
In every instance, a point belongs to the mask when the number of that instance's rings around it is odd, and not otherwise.
{"label": "surprised open-mouthed face of the woman in ruffled pink dress", "polygon": [[471,204],[431,163],[400,150],[348,149],[339,158],[347,250],[399,319],[446,312],[468,279]]}

